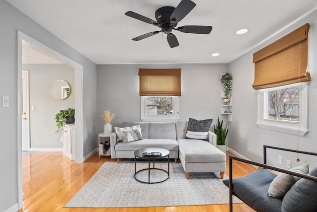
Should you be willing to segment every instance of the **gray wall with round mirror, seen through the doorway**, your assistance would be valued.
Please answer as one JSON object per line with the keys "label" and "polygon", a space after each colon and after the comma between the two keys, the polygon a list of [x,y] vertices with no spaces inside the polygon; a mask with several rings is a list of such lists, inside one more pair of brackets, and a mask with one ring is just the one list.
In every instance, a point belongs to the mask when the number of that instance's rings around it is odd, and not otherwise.
{"label": "gray wall with round mirror, seen through the doorway", "polygon": [[[62,134],[55,133],[54,118],[59,110],[75,106],[74,69],[63,64],[24,64],[22,70],[29,71],[30,147],[62,148]],[[51,96],[50,86],[56,79],[63,79],[70,86],[70,95],[64,100]]]}

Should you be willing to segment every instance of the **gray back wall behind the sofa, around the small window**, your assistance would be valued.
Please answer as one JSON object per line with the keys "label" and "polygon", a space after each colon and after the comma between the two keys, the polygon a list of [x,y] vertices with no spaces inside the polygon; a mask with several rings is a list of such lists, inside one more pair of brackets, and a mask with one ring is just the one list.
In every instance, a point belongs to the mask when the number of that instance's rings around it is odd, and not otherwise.
{"label": "gray back wall behind the sofa, around the small window", "polygon": [[140,121],[140,68],[182,69],[180,120],[221,118],[220,74],[227,71],[226,64],[97,65],[99,133],[103,132],[104,121],[101,115],[104,110],[116,114],[111,122],[112,128],[121,126],[123,121]]}

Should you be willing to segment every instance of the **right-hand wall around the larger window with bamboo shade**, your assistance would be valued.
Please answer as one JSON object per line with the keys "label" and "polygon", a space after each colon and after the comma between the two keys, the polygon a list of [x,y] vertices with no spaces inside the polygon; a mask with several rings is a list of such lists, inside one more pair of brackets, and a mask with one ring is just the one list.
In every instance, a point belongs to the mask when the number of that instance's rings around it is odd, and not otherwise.
{"label": "right-hand wall around the larger window with bamboo shade", "polygon": [[[312,81],[309,82],[309,133],[304,137],[298,137],[285,133],[261,129],[257,126],[257,101],[258,91],[252,88],[254,80],[253,53],[267,46],[273,41],[283,37],[298,27],[310,23],[309,29],[309,64],[308,71],[311,72]],[[278,35],[272,37],[265,43],[246,53],[242,57],[229,64],[229,72],[233,75],[233,123],[229,131],[229,147],[245,157],[263,162],[263,145],[272,145],[317,152],[317,11],[306,16],[302,20],[292,24]],[[283,156],[283,165],[277,163],[278,155]],[[308,162],[311,167],[317,166],[316,156],[301,156],[301,161],[296,162],[297,154],[283,153],[281,151],[268,152],[268,163],[286,168],[286,159],[292,160],[292,167]]]}

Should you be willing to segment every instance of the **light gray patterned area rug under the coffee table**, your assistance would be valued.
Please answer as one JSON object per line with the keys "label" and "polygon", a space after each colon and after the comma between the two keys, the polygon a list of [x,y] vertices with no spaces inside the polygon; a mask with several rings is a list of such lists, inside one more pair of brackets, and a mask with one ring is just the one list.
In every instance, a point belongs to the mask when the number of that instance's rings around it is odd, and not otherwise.
{"label": "light gray patterned area rug under the coffee table", "polygon": [[[166,162],[156,168],[167,170]],[[152,166],[152,164],[151,164]],[[137,171],[148,163],[137,161]],[[153,171],[153,172],[152,172]],[[151,170],[151,180],[159,181],[167,174]],[[148,171],[138,174],[146,180]],[[228,176],[224,175],[224,179]],[[234,203],[242,203],[236,197]],[[134,179],[134,162],[105,162],[65,208],[128,208],[229,204],[229,189],[220,173],[190,173],[187,180],[181,163],[170,162],[169,178],[161,183],[145,184]]]}

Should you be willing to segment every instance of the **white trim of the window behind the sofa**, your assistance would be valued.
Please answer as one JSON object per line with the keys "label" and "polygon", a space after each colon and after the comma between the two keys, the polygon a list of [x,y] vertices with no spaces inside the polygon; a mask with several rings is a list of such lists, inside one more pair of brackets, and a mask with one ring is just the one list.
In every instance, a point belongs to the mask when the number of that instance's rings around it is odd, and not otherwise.
{"label": "white trim of the window behind the sofa", "polygon": [[146,115],[146,98],[147,96],[141,96],[141,120],[144,122],[159,122],[159,121],[177,121],[179,120],[179,97],[174,96],[173,101],[173,116],[147,116]]}

